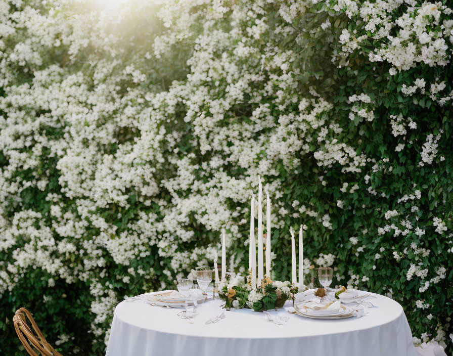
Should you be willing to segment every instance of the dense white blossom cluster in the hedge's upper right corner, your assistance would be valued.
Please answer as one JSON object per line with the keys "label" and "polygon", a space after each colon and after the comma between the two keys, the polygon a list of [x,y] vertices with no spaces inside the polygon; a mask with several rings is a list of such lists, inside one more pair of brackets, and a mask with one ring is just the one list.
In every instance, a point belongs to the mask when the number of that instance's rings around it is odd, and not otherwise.
{"label": "dense white blossom cluster in the hedge's upper right corner", "polygon": [[[352,1],[348,3],[356,4]],[[369,60],[392,64],[395,68],[390,72],[392,75],[396,74],[396,69],[407,70],[419,62],[429,66],[444,66],[448,62],[448,43],[453,43],[453,23],[446,16],[452,10],[441,2],[420,4],[415,1],[379,0],[366,1],[360,8],[346,7],[345,10],[345,7],[338,6],[333,10],[344,12],[349,17],[357,16],[366,23],[361,35],[356,30],[351,33],[343,29],[341,57],[347,58],[350,53],[361,51],[362,43],[371,39],[380,41],[382,46],[369,53]],[[401,11],[402,16],[394,19],[392,14],[396,10]],[[433,31],[434,28],[436,30]]]}

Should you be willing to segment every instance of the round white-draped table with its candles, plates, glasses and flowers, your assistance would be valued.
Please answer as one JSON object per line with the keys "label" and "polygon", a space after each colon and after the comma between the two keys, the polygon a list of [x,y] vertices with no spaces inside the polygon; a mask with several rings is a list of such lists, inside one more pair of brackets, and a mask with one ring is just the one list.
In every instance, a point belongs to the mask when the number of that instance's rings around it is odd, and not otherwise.
{"label": "round white-draped table with its candles, plates, glasses and flowers", "polygon": [[395,300],[350,286],[331,288],[330,266],[316,269],[319,288],[313,279],[304,284],[302,226],[298,269],[290,229],[291,281],[271,279],[270,199],[267,195],[263,234],[260,180],[258,190],[258,236],[252,196],[247,274],[227,272],[223,230],[220,266],[215,260],[200,265],[193,279],[174,281],[177,290],[145,293],[117,305],[106,356],[416,356],[411,329]]}

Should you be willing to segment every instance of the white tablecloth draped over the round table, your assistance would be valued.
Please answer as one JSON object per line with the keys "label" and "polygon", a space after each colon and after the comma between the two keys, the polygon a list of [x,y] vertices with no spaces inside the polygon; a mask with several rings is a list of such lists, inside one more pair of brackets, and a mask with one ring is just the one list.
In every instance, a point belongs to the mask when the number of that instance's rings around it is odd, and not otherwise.
{"label": "white tablecloth draped over the round table", "polygon": [[183,309],[123,301],[115,309],[106,356],[419,354],[401,305],[375,296],[376,307],[361,318],[315,320],[272,310],[290,317],[283,325],[249,309],[225,310],[225,319],[205,324],[210,315],[221,313],[221,300],[200,304],[193,324],[177,316]]}

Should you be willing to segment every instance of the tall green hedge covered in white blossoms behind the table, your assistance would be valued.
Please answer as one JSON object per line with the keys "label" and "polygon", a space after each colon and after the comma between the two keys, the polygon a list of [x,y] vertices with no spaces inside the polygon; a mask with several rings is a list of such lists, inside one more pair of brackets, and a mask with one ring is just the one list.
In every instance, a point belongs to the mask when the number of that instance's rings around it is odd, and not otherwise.
{"label": "tall green hedge covered in white blossoms behind the table", "polygon": [[[248,263],[257,176],[273,274],[304,265],[401,303],[452,352],[448,0],[0,3],[0,337],[34,312],[103,354],[125,295]],[[448,7],[449,6],[449,7]]]}

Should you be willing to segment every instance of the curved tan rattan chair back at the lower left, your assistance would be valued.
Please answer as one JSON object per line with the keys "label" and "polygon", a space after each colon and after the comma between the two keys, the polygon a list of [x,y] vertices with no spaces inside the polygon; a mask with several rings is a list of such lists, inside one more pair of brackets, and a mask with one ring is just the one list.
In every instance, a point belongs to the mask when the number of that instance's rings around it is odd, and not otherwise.
{"label": "curved tan rattan chair back at the lower left", "polygon": [[[27,324],[27,319],[31,323],[31,328]],[[42,356],[62,356],[60,352],[55,351],[55,349],[46,341],[46,338],[42,335],[41,330],[39,330],[27,309],[18,309],[13,317],[13,323],[17,336],[19,336],[19,340],[31,356],[38,356],[38,354],[41,354]],[[38,353],[36,353],[33,348],[36,349]]]}

